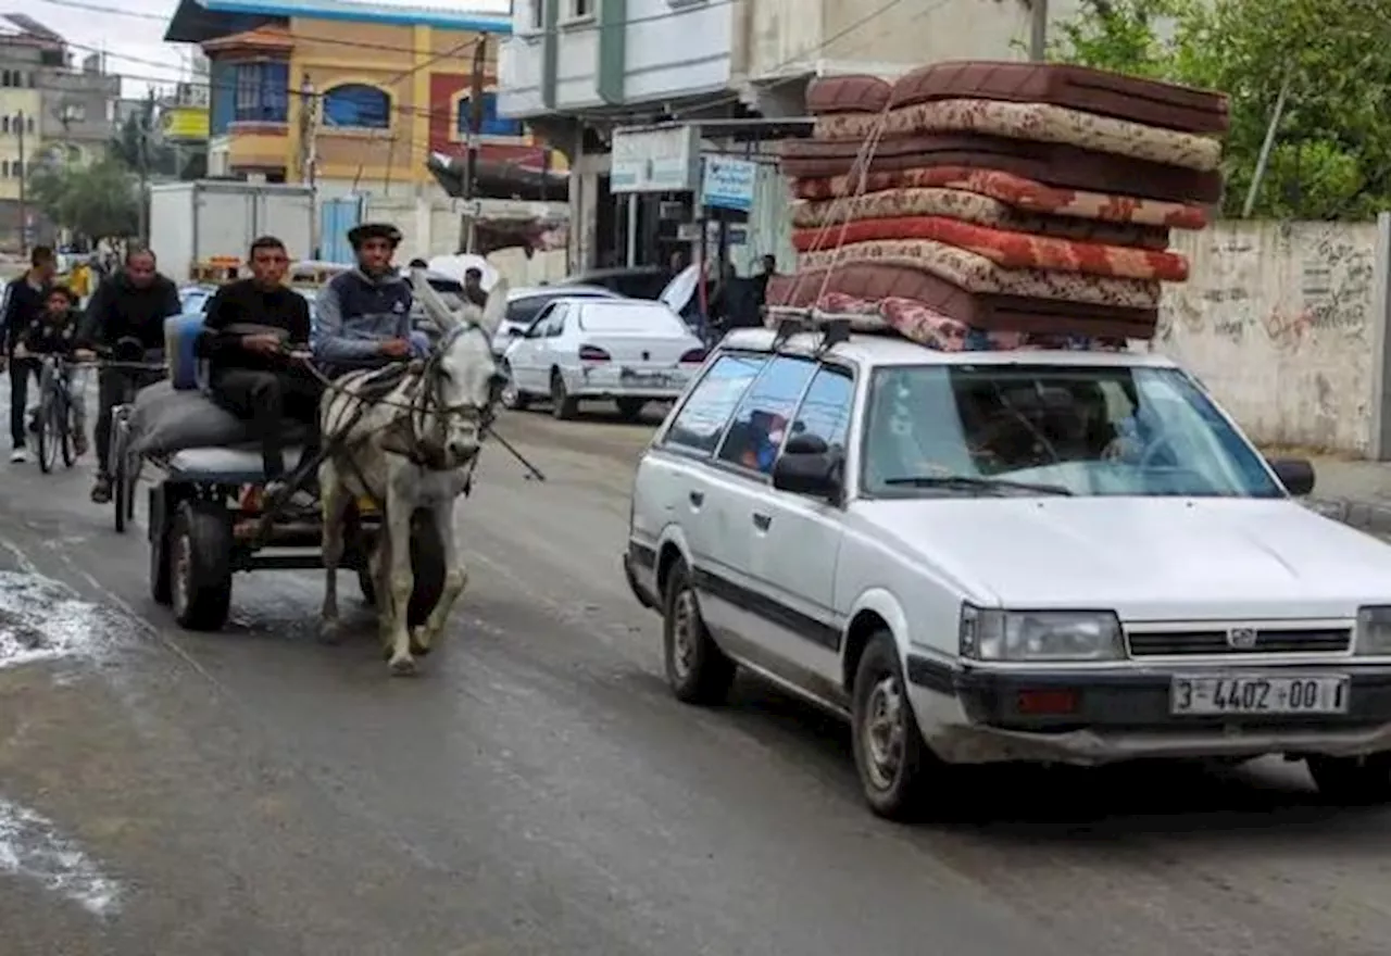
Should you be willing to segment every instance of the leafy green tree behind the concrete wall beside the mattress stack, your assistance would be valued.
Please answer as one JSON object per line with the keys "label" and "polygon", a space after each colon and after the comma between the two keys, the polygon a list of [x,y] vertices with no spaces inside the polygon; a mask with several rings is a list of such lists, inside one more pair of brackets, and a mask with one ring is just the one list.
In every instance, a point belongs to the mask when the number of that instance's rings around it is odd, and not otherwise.
{"label": "leafy green tree behind the concrete wall beside the mattress stack", "polygon": [[1391,0],[1088,0],[1052,54],[1227,93],[1228,214],[1288,83],[1253,214],[1370,218],[1391,207],[1388,40]]}

